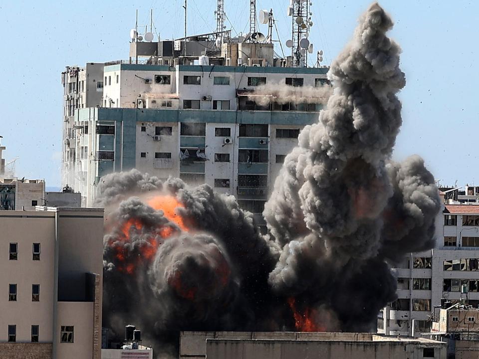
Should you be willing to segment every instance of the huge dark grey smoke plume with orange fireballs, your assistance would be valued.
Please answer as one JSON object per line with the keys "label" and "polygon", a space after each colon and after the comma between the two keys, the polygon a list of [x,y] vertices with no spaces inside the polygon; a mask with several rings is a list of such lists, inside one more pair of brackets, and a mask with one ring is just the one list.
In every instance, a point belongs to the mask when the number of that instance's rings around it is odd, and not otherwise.
{"label": "huge dark grey smoke plume with orange fireballs", "polygon": [[136,323],[163,344],[179,330],[372,328],[396,296],[390,265],[431,248],[440,208],[421,158],[391,161],[405,85],[392,25],[371,5],[333,62],[326,109],[265,205],[270,234],[206,184],[136,170],[102,179],[105,326]]}

